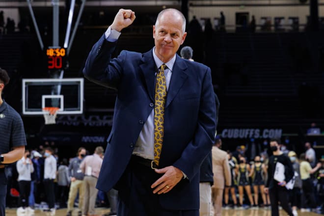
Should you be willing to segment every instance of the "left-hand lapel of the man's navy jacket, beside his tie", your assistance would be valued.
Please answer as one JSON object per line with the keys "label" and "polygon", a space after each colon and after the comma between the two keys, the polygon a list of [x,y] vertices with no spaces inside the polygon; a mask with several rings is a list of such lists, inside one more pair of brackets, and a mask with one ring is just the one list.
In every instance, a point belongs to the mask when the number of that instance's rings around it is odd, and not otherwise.
{"label": "left-hand lapel of the man's navy jacket, beside his tie", "polygon": [[146,90],[152,102],[154,102],[154,92],[155,92],[155,71],[156,65],[153,58],[153,49],[142,56],[142,64],[139,66],[142,70],[144,80],[146,83]]}

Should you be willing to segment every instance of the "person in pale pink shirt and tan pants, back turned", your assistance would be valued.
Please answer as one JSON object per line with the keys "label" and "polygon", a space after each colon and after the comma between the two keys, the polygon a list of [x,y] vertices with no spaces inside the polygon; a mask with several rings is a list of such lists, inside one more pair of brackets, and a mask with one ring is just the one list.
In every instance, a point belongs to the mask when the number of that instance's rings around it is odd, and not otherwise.
{"label": "person in pale pink shirt and tan pants, back turned", "polygon": [[93,155],[89,155],[84,158],[80,164],[82,173],[84,173],[83,179],[83,215],[95,215],[95,204],[98,194],[96,184],[98,181],[99,172],[103,163],[104,149],[101,146],[96,147]]}

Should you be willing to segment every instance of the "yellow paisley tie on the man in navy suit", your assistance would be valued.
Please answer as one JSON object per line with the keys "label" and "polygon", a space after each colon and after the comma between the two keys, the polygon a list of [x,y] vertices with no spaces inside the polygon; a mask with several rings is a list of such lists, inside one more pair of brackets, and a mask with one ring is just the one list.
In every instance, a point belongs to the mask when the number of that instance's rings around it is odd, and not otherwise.
{"label": "yellow paisley tie on the man in navy suit", "polygon": [[157,74],[155,85],[155,107],[154,107],[154,162],[159,166],[164,135],[164,104],[166,98],[166,82],[164,76],[165,64],[161,65]]}

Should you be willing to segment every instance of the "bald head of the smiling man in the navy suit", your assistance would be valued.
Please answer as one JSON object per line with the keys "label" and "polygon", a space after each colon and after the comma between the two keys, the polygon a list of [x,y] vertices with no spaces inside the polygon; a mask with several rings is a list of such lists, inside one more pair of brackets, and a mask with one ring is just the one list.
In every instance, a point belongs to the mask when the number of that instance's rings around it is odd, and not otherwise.
{"label": "bald head of the smiling man in the navy suit", "polygon": [[155,54],[168,62],[185,41],[187,32],[182,31],[182,19],[179,14],[167,11],[162,14],[158,25],[153,26]]}

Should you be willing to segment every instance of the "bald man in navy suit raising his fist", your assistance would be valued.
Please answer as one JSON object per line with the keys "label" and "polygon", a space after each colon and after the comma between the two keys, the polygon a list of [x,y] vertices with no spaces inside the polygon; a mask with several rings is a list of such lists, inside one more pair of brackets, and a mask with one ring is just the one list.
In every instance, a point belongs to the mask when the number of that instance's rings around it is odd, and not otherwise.
{"label": "bald man in navy suit raising his fist", "polygon": [[211,71],[176,54],[187,35],[176,9],[159,13],[152,50],[112,59],[134,20],[120,9],[83,69],[88,80],[118,90],[97,188],[118,190],[118,216],[198,216],[199,168],[216,130]]}

